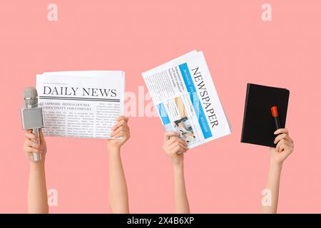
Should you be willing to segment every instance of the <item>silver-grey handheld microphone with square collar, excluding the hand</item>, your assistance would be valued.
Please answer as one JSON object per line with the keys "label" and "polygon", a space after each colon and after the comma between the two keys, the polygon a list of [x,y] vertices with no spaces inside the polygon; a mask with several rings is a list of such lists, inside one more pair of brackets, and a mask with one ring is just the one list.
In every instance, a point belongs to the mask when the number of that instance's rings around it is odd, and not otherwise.
{"label": "silver-grey handheld microphone with square collar, excluding the hand", "polygon": [[[22,128],[32,130],[32,133],[39,137],[39,129],[44,128],[44,118],[42,108],[38,104],[38,93],[36,88],[24,88],[24,105],[21,108]],[[39,142],[40,143],[40,139]],[[34,152],[32,160],[38,162],[41,160],[41,154]]]}

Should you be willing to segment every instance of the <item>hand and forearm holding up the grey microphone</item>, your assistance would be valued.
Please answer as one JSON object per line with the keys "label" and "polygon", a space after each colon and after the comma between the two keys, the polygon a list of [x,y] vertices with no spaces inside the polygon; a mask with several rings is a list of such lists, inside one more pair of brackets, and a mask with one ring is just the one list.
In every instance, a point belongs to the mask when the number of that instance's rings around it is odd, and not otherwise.
{"label": "hand and forearm holding up the grey microphone", "polygon": [[[37,138],[31,130],[26,130],[24,140],[24,152],[30,160],[28,213],[32,214],[49,213],[45,174],[46,140],[41,130],[39,130],[39,136]],[[41,153],[40,161],[32,160],[33,152]]]}

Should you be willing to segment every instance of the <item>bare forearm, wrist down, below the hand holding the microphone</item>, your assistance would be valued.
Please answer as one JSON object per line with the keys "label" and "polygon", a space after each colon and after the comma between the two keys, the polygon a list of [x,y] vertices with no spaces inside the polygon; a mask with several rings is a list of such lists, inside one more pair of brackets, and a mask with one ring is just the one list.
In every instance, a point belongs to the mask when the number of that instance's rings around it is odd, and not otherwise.
{"label": "bare forearm, wrist down, below the hand holding the microphone", "polygon": [[28,213],[45,214],[49,212],[44,160],[30,162]]}

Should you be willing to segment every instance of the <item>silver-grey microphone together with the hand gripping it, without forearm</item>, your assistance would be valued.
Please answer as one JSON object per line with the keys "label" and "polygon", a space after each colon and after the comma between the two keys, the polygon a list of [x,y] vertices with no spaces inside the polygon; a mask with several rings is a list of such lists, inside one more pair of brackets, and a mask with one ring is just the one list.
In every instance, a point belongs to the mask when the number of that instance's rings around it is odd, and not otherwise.
{"label": "silver-grey microphone together with the hand gripping it, without forearm", "polygon": [[27,130],[24,150],[31,153],[30,160],[38,162],[41,160],[41,152],[39,152],[41,150],[39,149],[41,145],[44,147],[46,144],[41,142],[41,139],[43,140],[44,137],[39,133],[39,130],[44,128],[44,118],[42,108],[38,104],[36,88],[28,87],[24,89],[24,105],[21,108],[21,120],[22,128]]}

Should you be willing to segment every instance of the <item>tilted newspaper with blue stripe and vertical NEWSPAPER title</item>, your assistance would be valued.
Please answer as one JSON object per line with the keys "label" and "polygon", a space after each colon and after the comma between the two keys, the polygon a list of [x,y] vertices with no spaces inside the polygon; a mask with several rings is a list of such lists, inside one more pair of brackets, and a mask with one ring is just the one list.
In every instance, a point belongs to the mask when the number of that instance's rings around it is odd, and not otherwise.
{"label": "tilted newspaper with blue stripe and vertical NEWSPAPER title", "polygon": [[189,148],[230,134],[203,52],[190,53],[142,73],[165,131]]}

